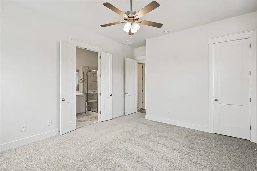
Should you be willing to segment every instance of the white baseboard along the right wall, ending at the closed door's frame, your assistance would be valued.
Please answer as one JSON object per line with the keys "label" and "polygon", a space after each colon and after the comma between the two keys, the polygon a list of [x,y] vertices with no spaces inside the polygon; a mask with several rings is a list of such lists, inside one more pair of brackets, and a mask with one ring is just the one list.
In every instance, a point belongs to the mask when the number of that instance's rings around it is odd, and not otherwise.
{"label": "white baseboard along the right wall, ending at the closed door's frame", "polygon": [[151,121],[167,123],[167,124],[171,124],[171,125],[176,125],[176,126],[180,126],[180,127],[195,129],[195,130],[204,131],[204,132],[208,132],[208,133],[210,132],[209,127],[205,127],[205,126],[201,126],[201,125],[195,125],[195,124],[180,122],[180,121],[173,121],[170,119],[163,119],[163,118],[148,116],[148,115],[145,115],[145,119],[148,119]]}

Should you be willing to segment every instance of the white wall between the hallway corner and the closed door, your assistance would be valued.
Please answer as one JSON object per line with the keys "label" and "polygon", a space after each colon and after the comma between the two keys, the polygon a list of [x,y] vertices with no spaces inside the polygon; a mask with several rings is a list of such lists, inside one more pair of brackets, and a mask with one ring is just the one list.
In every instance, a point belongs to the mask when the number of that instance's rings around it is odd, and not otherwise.
{"label": "white wall between the hallway corner and the closed door", "polygon": [[146,118],[208,131],[207,39],[254,29],[256,12],[146,40]]}

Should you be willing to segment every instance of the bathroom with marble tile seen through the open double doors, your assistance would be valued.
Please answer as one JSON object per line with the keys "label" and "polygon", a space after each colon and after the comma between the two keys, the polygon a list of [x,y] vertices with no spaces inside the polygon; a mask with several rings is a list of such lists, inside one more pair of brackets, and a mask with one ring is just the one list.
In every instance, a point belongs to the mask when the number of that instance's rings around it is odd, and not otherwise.
{"label": "bathroom with marble tile seen through the open double doors", "polygon": [[76,128],[98,122],[98,53],[76,47]]}

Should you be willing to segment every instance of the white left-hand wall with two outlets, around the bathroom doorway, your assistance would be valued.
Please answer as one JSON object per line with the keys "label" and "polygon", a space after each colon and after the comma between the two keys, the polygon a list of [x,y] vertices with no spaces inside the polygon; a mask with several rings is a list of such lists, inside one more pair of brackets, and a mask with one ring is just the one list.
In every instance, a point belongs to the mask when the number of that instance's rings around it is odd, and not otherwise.
{"label": "white left-hand wall with two outlets, around the bathroom doorway", "polygon": [[[125,57],[133,58],[133,49],[13,1],[1,1],[1,150],[56,135],[60,128],[59,41],[71,38],[113,54],[113,117],[123,115]],[[49,119],[52,125],[47,126]],[[22,125],[26,125],[24,132]]]}

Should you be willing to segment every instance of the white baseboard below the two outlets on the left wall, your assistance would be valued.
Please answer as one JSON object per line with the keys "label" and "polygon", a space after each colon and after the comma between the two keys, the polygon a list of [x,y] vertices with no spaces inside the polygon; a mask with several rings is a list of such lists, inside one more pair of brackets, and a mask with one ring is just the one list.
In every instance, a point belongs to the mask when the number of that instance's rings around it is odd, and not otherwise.
{"label": "white baseboard below the two outlets on the left wall", "polygon": [[59,130],[60,129],[56,129],[56,130],[49,131],[49,132],[46,132],[46,133],[42,133],[42,134],[34,135],[34,136],[31,136],[31,137],[23,138],[23,139],[20,139],[20,140],[12,141],[12,142],[9,142],[9,143],[1,144],[0,145],[0,151],[9,150],[11,148],[15,148],[15,147],[18,147],[18,146],[29,144],[29,143],[39,141],[39,140],[42,140],[42,139],[45,139],[45,138],[49,138],[49,137],[52,137],[52,136],[60,135],[60,133],[58,132]]}

